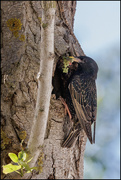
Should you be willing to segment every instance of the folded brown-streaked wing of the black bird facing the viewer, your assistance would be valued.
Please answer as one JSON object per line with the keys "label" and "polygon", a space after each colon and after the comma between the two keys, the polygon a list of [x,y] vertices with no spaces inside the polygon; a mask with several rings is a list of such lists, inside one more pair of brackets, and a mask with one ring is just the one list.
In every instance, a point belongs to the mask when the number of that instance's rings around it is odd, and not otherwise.
{"label": "folded brown-streaked wing of the black bird facing the viewer", "polygon": [[[96,86],[94,81],[80,78],[76,75],[69,86],[72,102],[81,126],[91,143],[95,142],[95,125],[97,113]],[[91,124],[94,122],[94,134],[92,140]]]}

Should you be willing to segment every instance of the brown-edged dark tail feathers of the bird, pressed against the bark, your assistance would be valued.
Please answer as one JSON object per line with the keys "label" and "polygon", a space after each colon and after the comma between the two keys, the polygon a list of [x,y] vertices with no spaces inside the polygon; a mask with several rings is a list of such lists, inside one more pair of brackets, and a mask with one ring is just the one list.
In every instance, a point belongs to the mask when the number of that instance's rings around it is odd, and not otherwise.
{"label": "brown-edged dark tail feathers of the bird, pressed against the bark", "polygon": [[71,129],[69,135],[67,138],[63,141],[62,147],[71,148],[74,141],[77,139],[77,137],[80,134],[80,128],[79,129]]}

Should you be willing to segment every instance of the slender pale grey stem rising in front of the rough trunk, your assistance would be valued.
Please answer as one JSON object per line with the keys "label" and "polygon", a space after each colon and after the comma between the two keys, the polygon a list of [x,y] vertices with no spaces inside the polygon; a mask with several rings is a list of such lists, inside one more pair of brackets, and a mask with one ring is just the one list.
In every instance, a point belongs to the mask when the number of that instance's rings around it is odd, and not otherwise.
{"label": "slender pale grey stem rising in front of the rough trunk", "polygon": [[[54,22],[55,22],[55,2],[42,1],[42,21],[41,21],[41,51],[40,70],[38,73],[37,102],[34,120],[28,149],[34,157],[30,162],[34,166],[43,145],[52,91],[52,72],[54,63]],[[45,27],[44,27],[45,26]]]}

